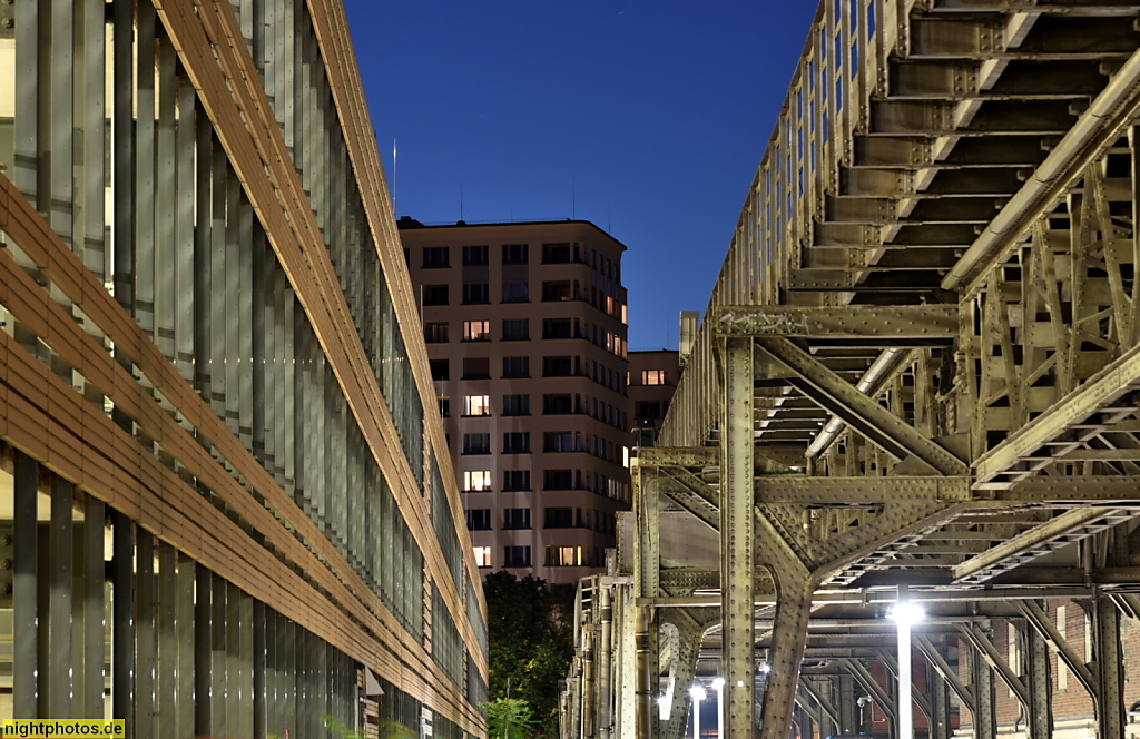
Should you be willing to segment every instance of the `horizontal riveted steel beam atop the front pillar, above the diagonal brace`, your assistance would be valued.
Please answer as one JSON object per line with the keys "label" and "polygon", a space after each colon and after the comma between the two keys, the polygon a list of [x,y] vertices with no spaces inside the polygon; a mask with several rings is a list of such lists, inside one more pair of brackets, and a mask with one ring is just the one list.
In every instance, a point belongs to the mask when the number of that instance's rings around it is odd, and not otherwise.
{"label": "horizontal riveted steel beam atop the front pillar, above the diagonal brace", "polygon": [[724,336],[813,339],[952,340],[959,333],[958,306],[720,306],[712,316]]}

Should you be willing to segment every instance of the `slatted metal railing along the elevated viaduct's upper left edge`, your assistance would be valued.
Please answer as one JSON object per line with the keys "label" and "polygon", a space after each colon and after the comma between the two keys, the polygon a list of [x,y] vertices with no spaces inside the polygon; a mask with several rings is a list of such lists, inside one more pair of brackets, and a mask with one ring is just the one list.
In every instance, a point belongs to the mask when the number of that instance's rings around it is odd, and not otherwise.
{"label": "slatted metal railing along the elevated viaduct's upper left edge", "polygon": [[907,54],[915,2],[823,0],[816,10],[677,383],[662,446],[701,446],[716,429],[720,387],[709,317],[720,306],[780,302],[825,196],[837,189],[839,167],[850,161],[855,132],[868,128],[872,94],[886,94],[887,60]]}

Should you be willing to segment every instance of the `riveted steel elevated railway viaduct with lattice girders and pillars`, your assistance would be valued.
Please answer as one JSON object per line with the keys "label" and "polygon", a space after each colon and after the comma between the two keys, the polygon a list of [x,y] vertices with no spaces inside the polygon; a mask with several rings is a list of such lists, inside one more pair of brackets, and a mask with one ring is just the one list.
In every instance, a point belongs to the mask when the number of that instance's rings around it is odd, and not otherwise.
{"label": "riveted steel elevated railway viaduct with lattice girders and pillars", "polygon": [[[897,716],[903,590],[933,739],[1124,736],[1138,16],[821,3],[611,579],[583,588],[565,736],[679,738],[694,675],[725,681],[733,739],[850,733],[861,693]],[[606,633],[636,638],[598,675]]]}

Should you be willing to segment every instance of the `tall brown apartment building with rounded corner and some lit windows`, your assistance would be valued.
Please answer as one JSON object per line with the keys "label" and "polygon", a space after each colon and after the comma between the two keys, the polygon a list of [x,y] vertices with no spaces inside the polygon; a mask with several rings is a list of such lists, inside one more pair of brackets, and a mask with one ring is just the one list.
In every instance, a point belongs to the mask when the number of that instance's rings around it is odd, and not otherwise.
{"label": "tall brown apartment building with rounded corner and some lit windows", "polygon": [[625,246],[588,221],[399,221],[475,559],[551,584],[628,510]]}

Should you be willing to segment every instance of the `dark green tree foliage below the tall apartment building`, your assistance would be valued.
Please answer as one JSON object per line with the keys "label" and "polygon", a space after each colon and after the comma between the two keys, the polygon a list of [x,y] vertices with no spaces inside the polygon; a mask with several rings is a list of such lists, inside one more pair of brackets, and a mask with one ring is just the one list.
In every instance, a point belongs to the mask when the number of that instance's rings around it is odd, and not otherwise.
{"label": "dark green tree foliage below the tall apartment building", "polygon": [[510,680],[510,698],[530,706],[540,733],[556,736],[559,681],[573,656],[572,591],[552,590],[544,579],[530,575],[519,579],[500,570],[483,580],[483,593],[489,697],[506,699]]}

